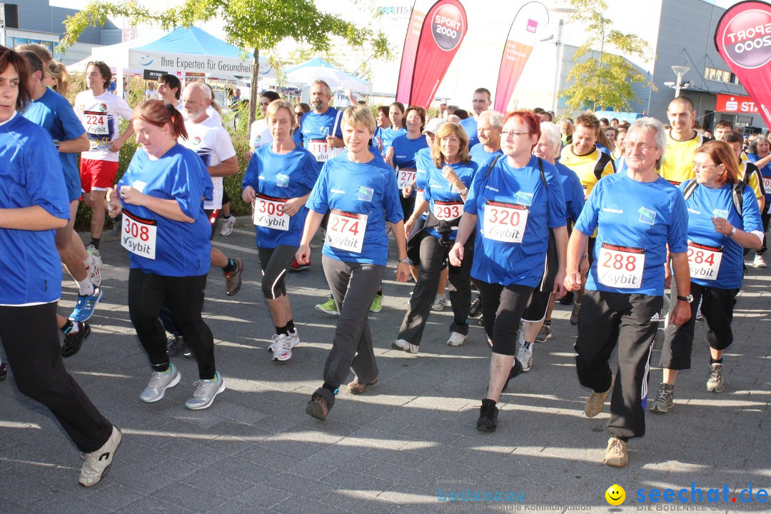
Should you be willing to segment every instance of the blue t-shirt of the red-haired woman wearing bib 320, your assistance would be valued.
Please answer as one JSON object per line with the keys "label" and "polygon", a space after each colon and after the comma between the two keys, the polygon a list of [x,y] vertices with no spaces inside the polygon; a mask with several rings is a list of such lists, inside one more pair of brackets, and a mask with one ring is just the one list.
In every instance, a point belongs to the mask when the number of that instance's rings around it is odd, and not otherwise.
{"label": "blue t-shirt of the red-haired woman wearing bib 320", "polygon": [[547,187],[536,156],[519,169],[509,166],[504,157],[489,175],[480,168],[474,176],[463,207],[477,216],[472,277],[504,286],[536,287],[540,283],[549,229],[565,226],[559,173],[546,161],[543,166]]}

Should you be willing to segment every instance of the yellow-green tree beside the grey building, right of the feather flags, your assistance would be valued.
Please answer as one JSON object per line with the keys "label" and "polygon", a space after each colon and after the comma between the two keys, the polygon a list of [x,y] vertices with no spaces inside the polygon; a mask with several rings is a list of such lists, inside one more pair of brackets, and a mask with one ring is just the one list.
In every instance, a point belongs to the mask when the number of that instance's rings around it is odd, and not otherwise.
{"label": "yellow-green tree beside the grey building, right of the feather flags", "polygon": [[[603,15],[608,10],[604,0],[571,0],[571,4],[577,11],[572,20],[587,25],[587,39],[573,55],[575,64],[567,74],[572,83],[560,96],[571,110],[591,106],[627,111],[631,100],[636,99],[631,84],[645,82],[645,75],[621,55],[608,53],[608,49],[648,61],[652,57],[650,46],[638,35],[612,29],[613,21]],[[578,62],[592,50],[597,50],[599,56]]]}

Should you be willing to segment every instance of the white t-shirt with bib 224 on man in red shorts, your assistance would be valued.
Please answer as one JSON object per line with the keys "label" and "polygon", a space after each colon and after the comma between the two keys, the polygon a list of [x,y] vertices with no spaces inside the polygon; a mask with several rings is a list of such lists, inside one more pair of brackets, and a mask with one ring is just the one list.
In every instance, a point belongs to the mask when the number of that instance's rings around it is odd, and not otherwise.
{"label": "white t-shirt with bib 224 on man in red shorts", "polygon": [[118,153],[110,152],[109,146],[120,136],[119,116],[123,119],[134,116],[126,100],[109,92],[94,96],[86,89],[75,97],[75,113],[91,143],[91,149],[80,154],[82,158],[117,162]]}

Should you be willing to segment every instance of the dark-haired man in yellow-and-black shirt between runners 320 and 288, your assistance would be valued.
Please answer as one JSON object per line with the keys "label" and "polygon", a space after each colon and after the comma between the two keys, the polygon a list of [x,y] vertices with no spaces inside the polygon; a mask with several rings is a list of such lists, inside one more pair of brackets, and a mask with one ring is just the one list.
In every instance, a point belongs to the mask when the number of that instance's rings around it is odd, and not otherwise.
{"label": "dark-haired man in yellow-and-black shirt between runners 320 and 288", "polygon": [[[598,183],[598,180],[603,176],[612,175],[616,171],[613,158],[608,153],[601,152],[595,144],[600,130],[600,122],[594,114],[585,113],[578,116],[573,130],[573,142],[562,149],[560,156],[560,163],[573,170],[578,176],[578,180],[581,180],[585,197],[589,197],[589,193],[591,193],[594,184]],[[589,238],[587,251],[589,264],[594,260],[595,235],[596,233]],[[581,310],[581,299],[584,297],[583,284],[586,284],[585,276],[581,284],[581,289],[575,294],[575,304],[571,313],[572,325],[578,324],[578,311]]]}

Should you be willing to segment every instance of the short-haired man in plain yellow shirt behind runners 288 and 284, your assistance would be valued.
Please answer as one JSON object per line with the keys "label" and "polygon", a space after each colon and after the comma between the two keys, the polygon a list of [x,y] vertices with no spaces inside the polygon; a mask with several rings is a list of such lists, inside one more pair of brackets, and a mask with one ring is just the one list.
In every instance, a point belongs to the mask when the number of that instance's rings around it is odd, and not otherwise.
{"label": "short-haired man in plain yellow shirt behind runners 288 and 284", "polygon": [[696,149],[709,140],[694,129],[696,110],[691,99],[680,96],[669,102],[667,118],[672,126],[667,133],[667,148],[659,174],[679,186],[685,180],[695,178],[693,156]]}

